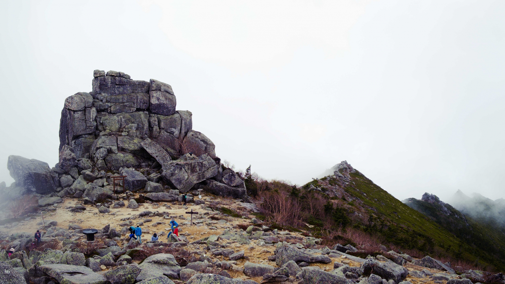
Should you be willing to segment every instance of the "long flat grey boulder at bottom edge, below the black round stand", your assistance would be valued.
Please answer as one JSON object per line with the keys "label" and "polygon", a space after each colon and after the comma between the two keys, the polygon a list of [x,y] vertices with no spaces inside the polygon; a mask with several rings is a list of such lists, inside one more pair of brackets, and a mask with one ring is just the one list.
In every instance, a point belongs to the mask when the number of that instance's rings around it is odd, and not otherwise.
{"label": "long flat grey boulder at bottom edge, below the black round stand", "polygon": [[68,264],[47,264],[37,267],[48,276],[60,283],[68,284],[105,284],[105,276],[98,274],[86,266]]}

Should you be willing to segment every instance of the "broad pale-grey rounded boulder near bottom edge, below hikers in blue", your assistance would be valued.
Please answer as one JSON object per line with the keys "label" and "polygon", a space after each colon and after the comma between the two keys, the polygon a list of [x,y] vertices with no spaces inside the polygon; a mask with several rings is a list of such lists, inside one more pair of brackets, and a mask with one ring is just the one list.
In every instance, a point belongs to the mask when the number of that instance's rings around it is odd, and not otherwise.
{"label": "broad pale-grey rounded boulder near bottom edge, below hikers in blue", "polygon": [[142,271],[137,276],[136,281],[161,275],[179,278],[179,271],[181,271],[181,267],[171,254],[151,255],[139,265],[139,268]]}

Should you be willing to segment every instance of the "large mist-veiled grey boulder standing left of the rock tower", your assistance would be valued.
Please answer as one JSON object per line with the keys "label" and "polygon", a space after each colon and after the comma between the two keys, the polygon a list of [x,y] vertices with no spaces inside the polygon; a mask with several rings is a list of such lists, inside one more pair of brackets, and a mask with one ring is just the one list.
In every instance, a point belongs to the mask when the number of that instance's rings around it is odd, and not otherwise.
{"label": "large mist-veiled grey boulder standing left of the rock tower", "polygon": [[7,169],[16,180],[16,185],[37,194],[50,194],[56,191],[59,183],[56,175],[47,163],[21,156],[9,156]]}

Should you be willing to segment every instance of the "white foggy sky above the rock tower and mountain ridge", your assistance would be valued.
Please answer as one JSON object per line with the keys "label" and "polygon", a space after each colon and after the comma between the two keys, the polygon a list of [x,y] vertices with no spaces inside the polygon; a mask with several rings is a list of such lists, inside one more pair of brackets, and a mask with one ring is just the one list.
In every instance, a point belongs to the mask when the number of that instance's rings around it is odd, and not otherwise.
{"label": "white foggy sky above the rock tower and mountain ridge", "polygon": [[115,70],[171,84],[220,158],[268,179],[304,184],[347,160],[400,200],[505,197],[504,12],[482,0],[2,1],[0,163],[53,167],[65,98]]}

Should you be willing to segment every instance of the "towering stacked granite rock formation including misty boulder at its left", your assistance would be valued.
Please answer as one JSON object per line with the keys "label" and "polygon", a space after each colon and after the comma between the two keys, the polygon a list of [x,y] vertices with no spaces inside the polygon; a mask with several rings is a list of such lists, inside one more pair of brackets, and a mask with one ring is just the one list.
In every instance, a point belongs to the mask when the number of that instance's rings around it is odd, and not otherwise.
{"label": "towering stacked granite rock formation including misty boulder at its left", "polygon": [[[92,91],[65,100],[60,120],[59,163],[10,156],[16,183],[4,188],[12,198],[112,195],[112,177],[126,175],[126,190],[157,192],[205,188],[245,198],[244,182],[216,156],[214,143],[192,129],[190,111],[176,110],[169,84],[132,80],[116,71],[93,72]],[[224,171],[224,175],[223,175]],[[154,184],[156,183],[156,184]]]}

